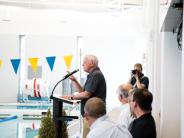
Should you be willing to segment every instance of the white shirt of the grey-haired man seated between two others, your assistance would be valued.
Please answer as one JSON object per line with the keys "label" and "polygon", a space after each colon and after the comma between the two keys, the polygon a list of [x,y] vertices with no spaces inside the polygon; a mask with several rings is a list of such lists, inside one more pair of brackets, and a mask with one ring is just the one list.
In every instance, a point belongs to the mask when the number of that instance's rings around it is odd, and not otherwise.
{"label": "white shirt of the grey-haired man seated between two others", "polygon": [[130,104],[126,103],[123,105],[117,124],[125,126],[127,129],[130,123],[134,120],[130,113]]}

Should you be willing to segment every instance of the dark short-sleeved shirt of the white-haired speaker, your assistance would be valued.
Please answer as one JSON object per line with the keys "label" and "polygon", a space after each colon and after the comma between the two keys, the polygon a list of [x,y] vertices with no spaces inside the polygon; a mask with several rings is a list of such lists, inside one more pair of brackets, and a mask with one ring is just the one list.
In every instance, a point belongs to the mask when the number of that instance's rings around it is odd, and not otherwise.
{"label": "dark short-sleeved shirt of the white-haired speaker", "polygon": [[[88,91],[91,93],[91,96],[89,98],[98,97],[105,102],[106,81],[99,67],[95,68],[91,73],[88,74],[87,80],[84,84],[84,91]],[[88,99],[83,99],[81,101],[82,116],[84,116],[84,105]]]}

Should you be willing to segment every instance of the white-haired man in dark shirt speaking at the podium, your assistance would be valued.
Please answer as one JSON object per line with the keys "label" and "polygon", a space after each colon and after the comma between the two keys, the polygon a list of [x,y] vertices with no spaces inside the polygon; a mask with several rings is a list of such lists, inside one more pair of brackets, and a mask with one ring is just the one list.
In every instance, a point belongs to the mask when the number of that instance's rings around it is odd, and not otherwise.
{"label": "white-haired man in dark shirt speaking at the podium", "polygon": [[[104,75],[102,74],[100,68],[98,67],[98,59],[96,56],[85,55],[82,66],[83,70],[89,73],[84,86],[82,87],[74,76],[70,76],[72,84],[79,93],[76,95],[63,96],[63,97],[72,100],[81,100],[81,114],[84,117],[84,105],[88,99],[92,97],[98,97],[105,102],[106,81]],[[84,120],[83,138],[86,138],[86,135],[89,132],[89,127],[86,125],[87,125],[86,121]],[[88,129],[86,129],[86,127]]]}

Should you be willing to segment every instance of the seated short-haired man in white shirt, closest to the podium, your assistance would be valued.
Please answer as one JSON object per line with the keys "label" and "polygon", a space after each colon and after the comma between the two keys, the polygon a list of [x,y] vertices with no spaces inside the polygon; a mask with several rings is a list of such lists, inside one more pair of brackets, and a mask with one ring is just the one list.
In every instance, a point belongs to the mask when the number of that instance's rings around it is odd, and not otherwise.
{"label": "seated short-haired man in white shirt, closest to the podium", "polygon": [[116,125],[108,118],[105,103],[100,98],[90,98],[84,111],[90,126],[87,138],[132,138],[127,128]]}

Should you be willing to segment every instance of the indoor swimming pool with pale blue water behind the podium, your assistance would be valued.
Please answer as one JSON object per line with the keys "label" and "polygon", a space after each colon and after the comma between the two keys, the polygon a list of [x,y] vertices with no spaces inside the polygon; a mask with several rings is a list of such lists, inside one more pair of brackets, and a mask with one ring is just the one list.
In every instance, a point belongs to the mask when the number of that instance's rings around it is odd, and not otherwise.
{"label": "indoor swimming pool with pale blue water behind the podium", "polygon": [[[16,115],[17,118],[0,122],[0,138],[34,138],[38,135],[41,118],[49,108],[52,110],[52,103],[1,103],[0,116]],[[74,112],[78,114],[78,108]],[[80,131],[79,122],[69,122],[69,135]]]}

